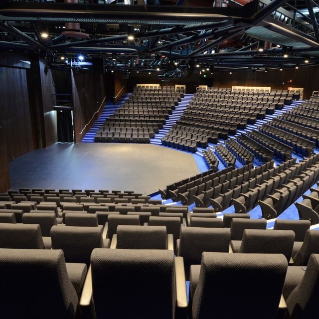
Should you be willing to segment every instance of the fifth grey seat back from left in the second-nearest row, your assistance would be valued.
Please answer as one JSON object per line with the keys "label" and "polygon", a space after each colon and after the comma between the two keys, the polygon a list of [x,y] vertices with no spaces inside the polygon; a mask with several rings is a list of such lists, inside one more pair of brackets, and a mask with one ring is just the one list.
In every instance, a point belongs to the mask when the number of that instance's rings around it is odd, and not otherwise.
{"label": "fifth grey seat back from left in the second-nearest row", "polygon": [[245,229],[238,253],[283,254],[289,262],[294,241],[293,230]]}

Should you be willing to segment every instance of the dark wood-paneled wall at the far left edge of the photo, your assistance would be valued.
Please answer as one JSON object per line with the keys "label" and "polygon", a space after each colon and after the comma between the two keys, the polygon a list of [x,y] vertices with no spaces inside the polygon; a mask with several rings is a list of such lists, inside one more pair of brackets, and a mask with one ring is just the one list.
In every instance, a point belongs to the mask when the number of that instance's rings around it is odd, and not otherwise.
{"label": "dark wood-paneled wall at the far left edge of the photo", "polygon": [[[6,154],[10,161],[34,149],[25,69],[0,67],[0,96]],[[1,157],[3,154],[1,147]]]}

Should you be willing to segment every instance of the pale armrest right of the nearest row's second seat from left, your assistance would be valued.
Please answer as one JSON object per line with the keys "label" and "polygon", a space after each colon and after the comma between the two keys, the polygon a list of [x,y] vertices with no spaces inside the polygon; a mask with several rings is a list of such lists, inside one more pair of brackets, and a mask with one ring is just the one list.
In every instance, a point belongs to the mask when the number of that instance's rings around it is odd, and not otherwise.
{"label": "pale armrest right of the nearest row's second seat from left", "polygon": [[183,257],[175,257],[176,315],[187,314],[187,292]]}

